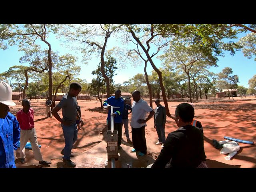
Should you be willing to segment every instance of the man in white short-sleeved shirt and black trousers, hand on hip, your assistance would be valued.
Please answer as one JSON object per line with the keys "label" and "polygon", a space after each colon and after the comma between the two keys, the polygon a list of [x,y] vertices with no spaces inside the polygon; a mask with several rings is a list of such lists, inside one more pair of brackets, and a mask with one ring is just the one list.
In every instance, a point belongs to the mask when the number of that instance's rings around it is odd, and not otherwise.
{"label": "man in white short-sleeved shirt and black trousers, hand on hip", "polygon": [[[146,122],[154,116],[154,110],[148,103],[140,98],[140,92],[135,90],[132,94],[134,102],[132,103],[132,120],[130,126],[132,127],[132,142],[134,148],[130,150],[131,153],[138,152],[138,157],[147,154],[147,144],[145,137]],[[148,118],[146,118],[146,114]]]}

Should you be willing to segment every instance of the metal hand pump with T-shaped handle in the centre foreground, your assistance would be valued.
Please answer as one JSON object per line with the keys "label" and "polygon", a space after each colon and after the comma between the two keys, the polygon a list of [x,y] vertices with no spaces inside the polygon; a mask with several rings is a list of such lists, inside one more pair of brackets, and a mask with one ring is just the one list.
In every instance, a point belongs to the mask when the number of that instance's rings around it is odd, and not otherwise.
{"label": "metal hand pump with T-shaped handle in the centre foreground", "polygon": [[[108,108],[105,106],[104,108]],[[107,131],[106,141],[107,141],[107,152],[108,152],[108,162],[111,161],[111,168],[116,168],[116,160],[118,160],[118,131],[114,130],[114,116],[113,116],[113,107],[111,106],[110,113],[110,127],[111,130]]]}

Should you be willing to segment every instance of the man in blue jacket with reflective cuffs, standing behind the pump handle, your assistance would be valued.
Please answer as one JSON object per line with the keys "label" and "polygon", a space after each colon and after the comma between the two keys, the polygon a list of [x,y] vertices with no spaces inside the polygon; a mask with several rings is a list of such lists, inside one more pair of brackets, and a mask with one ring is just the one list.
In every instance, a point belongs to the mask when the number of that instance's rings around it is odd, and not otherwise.
{"label": "man in blue jacket with reflective cuffs, standing behind the pump handle", "polygon": [[124,108],[124,100],[120,97],[121,90],[116,90],[115,96],[109,97],[107,100],[103,102],[103,106],[108,106],[108,130],[111,129],[110,126],[110,113],[111,108],[110,106],[120,107],[120,108],[113,108],[114,113],[114,130],[118,131],[118,149],[121,149],[121,141],[122,141],[122,111]]}

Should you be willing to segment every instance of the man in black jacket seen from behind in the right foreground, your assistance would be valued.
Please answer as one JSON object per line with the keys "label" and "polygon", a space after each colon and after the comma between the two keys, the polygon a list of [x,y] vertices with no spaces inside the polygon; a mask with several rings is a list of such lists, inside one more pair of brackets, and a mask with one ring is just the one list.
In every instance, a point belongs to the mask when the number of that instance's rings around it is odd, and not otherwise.
{"label": "man in black jacket seen from behind in the right foreground", "polygon": [[191,125],[194,108],[181,103],[175,110],[175,117],[179,128],[168,134],[164,148],[151,168],[206,168],[203,134]]}

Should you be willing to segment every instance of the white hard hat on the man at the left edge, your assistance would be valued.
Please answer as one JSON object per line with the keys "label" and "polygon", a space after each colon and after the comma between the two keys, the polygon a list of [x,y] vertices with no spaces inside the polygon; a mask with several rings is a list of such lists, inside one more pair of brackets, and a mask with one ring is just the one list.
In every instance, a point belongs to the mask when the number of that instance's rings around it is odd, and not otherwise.
{"label": "white hard hat on the man at the left edge", "polygon": [[15,106],[12,101],[12,88],[6,82],[0,81],[0,103],[8,106]]}

